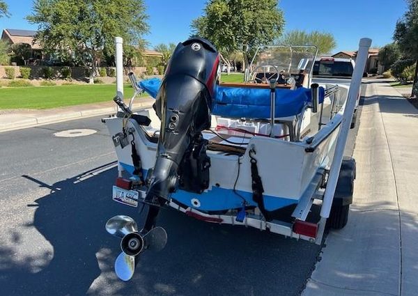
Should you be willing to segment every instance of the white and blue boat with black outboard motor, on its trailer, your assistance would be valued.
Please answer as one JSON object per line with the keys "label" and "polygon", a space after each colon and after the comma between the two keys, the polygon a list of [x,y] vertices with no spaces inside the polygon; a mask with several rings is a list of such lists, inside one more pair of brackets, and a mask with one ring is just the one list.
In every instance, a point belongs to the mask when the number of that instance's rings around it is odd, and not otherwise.
{"label": "white and blue boat with black outboard motor, on its trailer", "polygon": [[[370,43],[360,41],[350,86],[312,84],[318,49],[292,45],[258,47],[244,81],[222,83],[219,52],[202,38],[178,44],[162,79],[130,73],[134,97],[125,104],[116,95],[118,114],[102,119],[118,157],[112,198],[147,209],[140,228],[123,215],[107,221],[121,238],[118,277],[131,279],[144,251],[164,248],[162,207],[316,244],[325,226],[343,228],[355,179],[343,148]],[[143,92],[155,104],[135,113]]]}

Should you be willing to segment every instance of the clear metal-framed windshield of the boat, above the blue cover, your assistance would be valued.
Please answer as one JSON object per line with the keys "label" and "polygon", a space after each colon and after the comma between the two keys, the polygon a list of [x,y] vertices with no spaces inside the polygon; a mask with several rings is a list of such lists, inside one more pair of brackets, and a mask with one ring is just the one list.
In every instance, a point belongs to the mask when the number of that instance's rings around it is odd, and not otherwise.
{"label": "clear metal-framed windshield of the boat, above the blue cover", "polygon": [[310,74],[318,49],[315,46],[272,45],[258,47],[250,72]]}

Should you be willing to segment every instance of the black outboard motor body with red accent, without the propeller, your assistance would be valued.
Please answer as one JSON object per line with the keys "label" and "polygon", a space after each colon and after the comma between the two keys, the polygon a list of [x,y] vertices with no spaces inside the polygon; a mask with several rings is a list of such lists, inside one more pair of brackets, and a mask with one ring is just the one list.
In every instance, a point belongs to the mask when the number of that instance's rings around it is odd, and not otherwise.
{"label": "black outboard motor body with red accent, without the propeller", "polygon": [[[146,202],[157,205],[167,201],[179,180],[184,180],[180,174],[208,178],[210,159],[201,132],[210,127],[218,68],[219,54],[208,40],[191,38],[173,52],[154,104],[161,129]],[[190,169],[200,172],[191,173]],[[180,182],[180,186],[193,183],[189,181]],[[192,191],[201,192],[208,180],[200,183],[200,187],[192,186]]]}

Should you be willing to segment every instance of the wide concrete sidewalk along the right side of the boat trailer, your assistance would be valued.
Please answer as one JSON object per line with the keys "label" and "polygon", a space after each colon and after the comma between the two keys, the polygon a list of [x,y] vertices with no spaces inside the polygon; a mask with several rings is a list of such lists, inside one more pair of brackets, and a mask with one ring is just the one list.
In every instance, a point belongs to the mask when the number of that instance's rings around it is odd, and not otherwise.
{"label": "wide concrete sidewalk along the right side of the boat trailer", "polygon": [[327,236],[303,296],[417,295],[418,110],[366,84],[348,224]]}

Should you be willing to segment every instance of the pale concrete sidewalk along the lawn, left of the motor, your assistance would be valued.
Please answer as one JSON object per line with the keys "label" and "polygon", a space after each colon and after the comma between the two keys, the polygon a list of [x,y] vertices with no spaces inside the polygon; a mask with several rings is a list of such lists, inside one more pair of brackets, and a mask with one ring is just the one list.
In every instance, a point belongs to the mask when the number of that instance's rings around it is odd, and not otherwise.
{"label": "pale concrete sidewalk along the lawn, left of the motor", "polygon": [[[137,98],[134,101],[133,109],[147,109],[154,102],[155,100],[150,97]],[[115,114],[116,111],[117,107],[113,101],[45,110],[0,110],[0,132],[78,118]]]}

